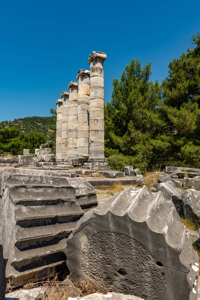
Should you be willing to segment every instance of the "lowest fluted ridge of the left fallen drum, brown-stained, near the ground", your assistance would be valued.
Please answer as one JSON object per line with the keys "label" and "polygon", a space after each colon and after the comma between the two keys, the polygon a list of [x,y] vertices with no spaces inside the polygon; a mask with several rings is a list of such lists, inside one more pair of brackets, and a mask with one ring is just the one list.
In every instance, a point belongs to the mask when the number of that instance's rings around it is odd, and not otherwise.
{"label": "lowest fluted ridge of the left fallen drum, brown-stained, near the ground", "polygon": [[14,287],[21,286],[27,283],[28,281],[38,281],[40,278],[45,278],[54,272],[58,273],[63,269],[66,269],[65,259],[52,262],[46,265],[37,266],[35,268],[24,270],[21,272],[17,271],[12,265],[10,266]]}

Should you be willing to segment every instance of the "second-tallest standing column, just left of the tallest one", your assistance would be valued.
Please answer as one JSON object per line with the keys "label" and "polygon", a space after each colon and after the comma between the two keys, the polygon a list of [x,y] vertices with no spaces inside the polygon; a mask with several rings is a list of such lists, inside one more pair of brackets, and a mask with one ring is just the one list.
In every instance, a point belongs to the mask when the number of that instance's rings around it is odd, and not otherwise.
{"label": "second-tallest standing column, just left of the tallest one", "polygon": [[89,71],[79,69],[78,79],[78,157],[89,156]]}

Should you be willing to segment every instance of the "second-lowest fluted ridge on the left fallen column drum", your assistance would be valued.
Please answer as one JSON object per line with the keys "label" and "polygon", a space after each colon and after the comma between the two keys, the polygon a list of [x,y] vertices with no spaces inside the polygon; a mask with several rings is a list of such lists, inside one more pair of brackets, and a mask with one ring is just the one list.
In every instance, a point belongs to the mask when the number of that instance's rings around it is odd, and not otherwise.
{"label": "second-lowest fluted ridge on the left fallen column drum", "polygon": [[61,249],[64,250],[65,247],[66,247],[66,238],[62,238],[56,244],[40,246],[37,248],[31,248],[23,251],[15,247],[14,263],[16,264],[17,262],[23,261],[23,266],[25,266],[26,264],[29,264],[31,262],[32,258],[37,257],[37,259],[39,260],[40,256],[50,255],[52,253],[59,252],[61,251]]}

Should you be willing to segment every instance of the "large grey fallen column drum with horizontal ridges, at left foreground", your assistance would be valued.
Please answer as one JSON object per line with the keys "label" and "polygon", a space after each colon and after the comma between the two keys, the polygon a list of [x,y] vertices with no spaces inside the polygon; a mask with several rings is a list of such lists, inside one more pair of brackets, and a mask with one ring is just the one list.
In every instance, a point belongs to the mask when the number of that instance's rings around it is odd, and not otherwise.
{"label": "large grey fallen column drum with horizontal ridges, at left foreground", "polygon": [[65,270],[66,238],[83,215],[68,178],[45,170],[0,169],[0,195],[6,275],[13,285]]}

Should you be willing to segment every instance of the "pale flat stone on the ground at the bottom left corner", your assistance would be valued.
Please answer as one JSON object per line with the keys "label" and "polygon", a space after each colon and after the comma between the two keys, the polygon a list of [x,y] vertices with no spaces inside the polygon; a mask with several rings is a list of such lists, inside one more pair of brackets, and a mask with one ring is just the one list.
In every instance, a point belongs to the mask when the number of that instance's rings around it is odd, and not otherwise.
{"label": "pale flat stone on the ground at the bottom left corner", "polygon": [[36,287],[32,289],[20,289],[5,295],[5,300],[42,300],[46,288]]}

